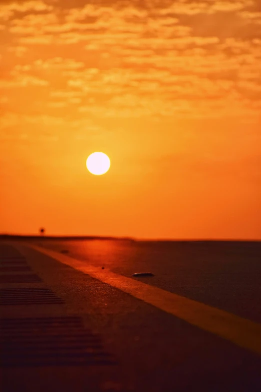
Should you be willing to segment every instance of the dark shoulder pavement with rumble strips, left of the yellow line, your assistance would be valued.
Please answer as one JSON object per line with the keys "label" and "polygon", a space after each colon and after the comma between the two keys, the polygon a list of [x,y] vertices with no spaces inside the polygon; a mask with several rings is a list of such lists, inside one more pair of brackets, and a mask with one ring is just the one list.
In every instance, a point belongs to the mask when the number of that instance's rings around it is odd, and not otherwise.
{"label": "dark shoulder pavement with rumble strips, left of the yellow line", "polygon": [[[0,244],[2,392],[261,390],[257,354],[31,248],[12,246],[17,250]],[[249,260],[251,265],[253,255]],[[200,281],[196,287],[202,295]],[[230,293],[228,308],[239,314]],[[249,318],[257,321],[260,298],[253,300],[251,293]],[[239,315],[247,308],[244,301]]]}

